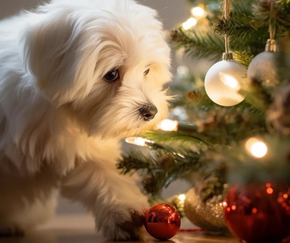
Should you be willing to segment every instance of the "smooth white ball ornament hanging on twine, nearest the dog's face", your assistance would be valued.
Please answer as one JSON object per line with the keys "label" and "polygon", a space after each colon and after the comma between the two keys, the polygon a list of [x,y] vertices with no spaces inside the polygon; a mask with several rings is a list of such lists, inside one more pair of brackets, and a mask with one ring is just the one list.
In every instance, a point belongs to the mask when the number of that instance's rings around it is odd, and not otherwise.
{"label": "smooth white ball ornament hanging on twine, nearest the dog's face", "polygon": [[238,91],[246,73],[242,64],[233,61],[232,53],[224,53],[223,60],[209,68],[205,76],[205,91],[218,105],[237,105],[245,98]]}

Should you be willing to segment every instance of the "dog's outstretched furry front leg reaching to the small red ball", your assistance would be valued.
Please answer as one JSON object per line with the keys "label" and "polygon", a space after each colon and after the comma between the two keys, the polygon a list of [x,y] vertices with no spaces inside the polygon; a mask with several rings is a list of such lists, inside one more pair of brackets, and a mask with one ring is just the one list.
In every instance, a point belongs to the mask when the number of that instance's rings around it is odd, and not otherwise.
{"label": "dog's outstretched furry front leg reaching to the small red ball", "polygon": [[71,200],[81,201],[92,211],[97,229],[102,230],[106,237],[113,240],[138,239],[143,230],[143,215],[148,208],[147,198],[132,177],[120,175],[116,169],[115,150],[105,148],[98,151],[95,160],[77,163],[64,178],[61,192]]}

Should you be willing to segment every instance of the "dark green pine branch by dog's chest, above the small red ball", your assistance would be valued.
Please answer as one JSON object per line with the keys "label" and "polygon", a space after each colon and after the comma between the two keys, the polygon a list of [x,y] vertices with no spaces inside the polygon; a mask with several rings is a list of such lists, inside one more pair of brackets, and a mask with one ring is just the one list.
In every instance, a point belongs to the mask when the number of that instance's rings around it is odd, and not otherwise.
{"label": "dark green pine branch by dog's chest, above the small red ball", "polygon": [[152,152],[145,156],[140,151],[132,150],[122,155],[123,159],[117,165],[122,174],[140,171],[144,190],[152,196],[160,194],[162,188],[168,187],[177,178],[184,178],[188,173],[198,171],[204,166],[200,161],[201,154],[190,150],[183,151],[183,154],[163,149]]}

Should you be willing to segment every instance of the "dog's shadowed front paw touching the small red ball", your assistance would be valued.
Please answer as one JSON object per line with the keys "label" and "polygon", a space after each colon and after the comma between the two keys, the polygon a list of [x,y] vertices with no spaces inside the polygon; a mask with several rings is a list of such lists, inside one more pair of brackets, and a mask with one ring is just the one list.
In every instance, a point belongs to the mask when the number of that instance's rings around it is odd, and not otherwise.
{"label": "dog's shadowed front paw touching the small red ball", "polygon": [[114,241],[135,241],[142,239],[145,228],[143,225],[144,214],[131,212],[131,216],[124,219],[121,215],[115,217],[115,222],[103,225],[103,233],[106,238]]}

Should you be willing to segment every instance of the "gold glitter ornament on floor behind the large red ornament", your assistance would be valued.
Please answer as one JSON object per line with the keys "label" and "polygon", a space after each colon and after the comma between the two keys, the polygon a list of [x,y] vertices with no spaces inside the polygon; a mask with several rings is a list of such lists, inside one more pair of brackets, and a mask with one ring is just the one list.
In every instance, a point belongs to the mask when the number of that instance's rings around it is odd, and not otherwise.
{"label": "gold glitter ornament on floor behind the large red ornament", "polygon": [[184,201],[184,214],[196,226],[211,232],[227,233],[222,202],[223,195],[203,202],[195,188],[190,189]]}

